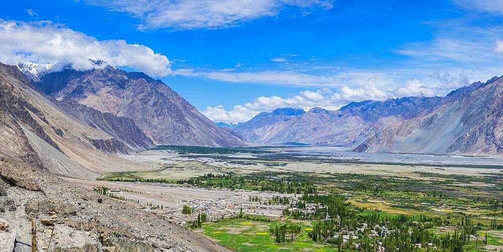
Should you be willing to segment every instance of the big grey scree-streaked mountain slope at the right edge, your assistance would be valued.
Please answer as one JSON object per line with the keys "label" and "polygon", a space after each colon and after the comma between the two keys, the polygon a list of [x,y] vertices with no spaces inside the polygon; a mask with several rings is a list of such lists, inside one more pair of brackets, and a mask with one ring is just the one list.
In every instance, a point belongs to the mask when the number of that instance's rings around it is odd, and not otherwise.
{"label": "big grey scree-streaked mountain slope at the right edge", "polygon": [[503,79],[451,92],[424,116],[396,122],[356,151],[498,154],[503,152]]}

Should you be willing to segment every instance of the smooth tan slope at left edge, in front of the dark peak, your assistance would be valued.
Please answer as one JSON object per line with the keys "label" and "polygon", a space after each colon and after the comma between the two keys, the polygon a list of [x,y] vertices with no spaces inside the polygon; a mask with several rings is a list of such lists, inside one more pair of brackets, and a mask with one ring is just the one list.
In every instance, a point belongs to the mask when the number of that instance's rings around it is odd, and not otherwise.
{"label": "smooth tan slope at left edge, in front of the dark peak", "polygon": [[35,90],[18,67],[0,63],[0,154],[56,174],[98,177],[103,165],[121,163],[107,153],[130,150],[119,140],[124,137],[102,128],[70,116]]}

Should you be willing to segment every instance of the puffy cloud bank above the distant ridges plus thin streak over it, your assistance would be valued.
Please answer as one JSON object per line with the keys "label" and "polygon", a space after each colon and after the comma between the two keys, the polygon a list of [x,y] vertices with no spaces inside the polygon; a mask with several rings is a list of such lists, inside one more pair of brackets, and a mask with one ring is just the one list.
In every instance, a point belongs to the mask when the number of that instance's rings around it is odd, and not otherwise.
{"label": "puffy cloud bank above the distant ridges plus thin streak over it", "polygon": [[[455,71],[453,71],[455,72]],[[215,122],[245,122],[261,112],[277,108],[311,109],[321,107],[337,110],[350,102],[364,100],[384,101],[397,97],[433,97],[446,95],[453,89],[468,84],[464,71],[454,75],[449,72],[430,70],[395,70],[390,72],[347,71],[326,75],[314,75],[295,71],[261,72],[198,72],[194,69],[178,69],[176,74],[197,76],[238,83],[264,83],[296,87],[317,87],[304,90],[290,97],[258,97],[252,102],[234,106],[226,110],[223,106],[207,107],[202,113]],[[408,76],[423,75],[407,79]],[[481,78],[483,79],[483,78]]]}

